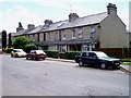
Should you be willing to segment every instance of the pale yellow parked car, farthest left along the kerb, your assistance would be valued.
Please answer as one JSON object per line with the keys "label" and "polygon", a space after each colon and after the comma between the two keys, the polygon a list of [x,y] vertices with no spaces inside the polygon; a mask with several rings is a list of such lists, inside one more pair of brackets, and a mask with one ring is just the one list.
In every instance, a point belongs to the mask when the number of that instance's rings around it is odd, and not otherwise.
{"label": "pale yellow parked car, farthest left along the kerb", "polygon": [[22,49],[13,49],[12,51],[11,51],[11,57],[12,58],[24,58],[26,56],[26,52],[24,52]]}

